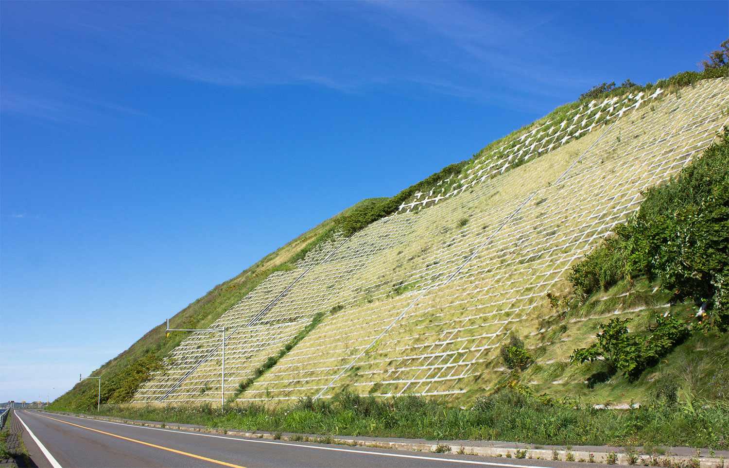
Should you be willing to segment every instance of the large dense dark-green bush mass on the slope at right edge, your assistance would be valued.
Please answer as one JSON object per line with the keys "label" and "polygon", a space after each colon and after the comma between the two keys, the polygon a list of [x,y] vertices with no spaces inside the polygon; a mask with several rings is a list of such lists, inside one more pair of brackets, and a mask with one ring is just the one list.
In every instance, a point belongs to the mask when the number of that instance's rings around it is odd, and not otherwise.
{"label": "large dense dark-green bush mass on the slope at right edge", "polygon": [[639,211],[572,268],[586,297],[631,276],[713,305],[729,325],[729,128],[676,179],[643,193]]}

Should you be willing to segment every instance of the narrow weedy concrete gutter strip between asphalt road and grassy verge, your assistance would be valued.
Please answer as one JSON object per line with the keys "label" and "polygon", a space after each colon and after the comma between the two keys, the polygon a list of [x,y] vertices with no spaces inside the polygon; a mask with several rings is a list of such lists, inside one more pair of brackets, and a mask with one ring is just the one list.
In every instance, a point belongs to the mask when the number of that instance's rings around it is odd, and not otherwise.
{"label": "narrow weedy concrete gutter strip between asphalt road and grassy verge", "polygon": [[136,426],[179,429],[189,432],[208,434],[228,434],[237,437],[250,437],[268,440],[292,440],[318,442],[324,444],[349,445],[351,447],[390,448],[394,450],[459,453],[464,455],[491,456],[514,459],[541,459],[559,461],[578,461],[600,464],[634,465],[664,468],[729,468],[729,451],[712,451],[706,448],[671,447],[664,454],[646,454],[641,451],[626,451],[622,447],[582,445],[568,448],[569,445],[534,445],[518,442],[499,442],[493,440],[425,440],[397,437],[348,437],[317,434],[294,434],[290,432],[245,431],[224,429],[197,424],[160,423],[134,419],[113,418],[109,416],[87,416],[63,411],[47,411],[80,418],[100,421],[122,422]]}

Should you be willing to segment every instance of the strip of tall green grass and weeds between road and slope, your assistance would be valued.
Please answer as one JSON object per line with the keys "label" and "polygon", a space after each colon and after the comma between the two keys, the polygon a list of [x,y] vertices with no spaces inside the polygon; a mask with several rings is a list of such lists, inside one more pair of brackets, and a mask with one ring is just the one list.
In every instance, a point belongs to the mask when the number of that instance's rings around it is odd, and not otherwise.
{"label": "strip of tall green grass and weeds between road and slope", "polygon": [[658,400],[632,410],[598,410],[564,399],[505,389],[480,397],[468,409],[405,396],[394,399],[340,394],[301,399],[276,408],[109,405],[101,414],[121,418],[265,430],[429,440],[508,440],[553,445],[672,445],[729,448],[729,405],[668,404]]}

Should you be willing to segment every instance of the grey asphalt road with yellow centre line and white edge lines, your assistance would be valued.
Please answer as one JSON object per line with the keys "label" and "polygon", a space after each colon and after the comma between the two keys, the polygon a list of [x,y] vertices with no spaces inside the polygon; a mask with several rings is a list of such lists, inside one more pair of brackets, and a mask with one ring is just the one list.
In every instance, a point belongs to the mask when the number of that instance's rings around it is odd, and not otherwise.
{"label": "grey asphalt road with yellow centre line and white edge lines", "polygon": [[481,456],[249,439],[33,410],[16,410],[15,415],[27,426],[23,440],[39,467],[577,468],[587,465],[530,459],[509,459],[503,463],[504,459]]}

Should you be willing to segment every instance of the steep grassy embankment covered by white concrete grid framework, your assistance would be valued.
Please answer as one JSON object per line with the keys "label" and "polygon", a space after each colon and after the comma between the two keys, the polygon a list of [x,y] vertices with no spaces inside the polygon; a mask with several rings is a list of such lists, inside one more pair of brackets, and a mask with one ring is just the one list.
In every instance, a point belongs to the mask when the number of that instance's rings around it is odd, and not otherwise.
{"label": "steep grassy embankment covered by white concrete grid framework", "polygon": [[[552,313],[545,293],[564,286],[642,190],[709,146],[728,121],[729,82],[606,102],[476,161],[457,193],[427,209],[401,207],[270,276],[211,326],[231,330],[226,396],[317,313],[326,319],[241,399],[488,390],[508,332],[533,346]],[[217,333],[190,335],[133,401],[219,401],[218,346]]]}

